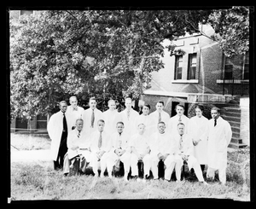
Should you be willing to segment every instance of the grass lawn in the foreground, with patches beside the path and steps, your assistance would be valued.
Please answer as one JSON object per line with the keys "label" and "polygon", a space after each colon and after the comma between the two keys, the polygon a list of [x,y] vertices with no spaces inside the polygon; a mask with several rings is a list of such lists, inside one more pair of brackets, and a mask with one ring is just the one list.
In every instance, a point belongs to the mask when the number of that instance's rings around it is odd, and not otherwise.
{"label": "grass lawn in the foreground, with patches beside the path and steps", "polygon": [[[15,137],[11,142],[15,142],[16,146],[20,145],[19,148],[26,149],[28,142],[26,137],[20,139],[18,136]],[[32,148],[49,148],[49,144],[49,139],[36,139]],[[233,152],[229,154],[229,158],[240,163],[249,158],[249,152]],[[182,183],[163,180],[149,180],[143,183],[133,179],[125,182],[122,177],[94,178],[91,175],[63,178],[62,171],[54,171],[52,162],[49,161],[13,162],[10,177],[11,198],[12,200],[216,198],[249,201],[250,182],[242,180],[238,169],[241,170],[235,164],[228,165],[226,185],[221,185],[215,180],[208,182],[209,186],[204,186],[196,179],[184,180]],[[249,177],[248,171],[247,177]]]}

